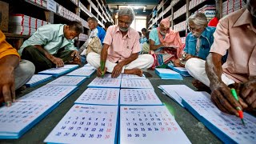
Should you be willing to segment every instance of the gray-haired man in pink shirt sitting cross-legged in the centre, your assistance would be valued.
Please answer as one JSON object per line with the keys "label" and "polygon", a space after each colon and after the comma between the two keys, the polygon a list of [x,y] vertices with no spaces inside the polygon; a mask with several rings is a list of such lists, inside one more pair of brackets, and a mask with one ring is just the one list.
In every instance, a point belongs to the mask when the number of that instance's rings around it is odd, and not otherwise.
{"label": "gray-haired man in pink shirt sitting cross-legged in the centre", "polygon": [[118,25],[106,31],[101,54],[90,52],[87,55],[87,62],[98,68],[98,77],[106,71],[112,73],[112,78],[121,73],[142,76],[141,69],[153,65],[154,58],[150,54],[138,55],[141,51],[138,32],[130,27],[134,18],[134,10],[130,7],[119,10]]}

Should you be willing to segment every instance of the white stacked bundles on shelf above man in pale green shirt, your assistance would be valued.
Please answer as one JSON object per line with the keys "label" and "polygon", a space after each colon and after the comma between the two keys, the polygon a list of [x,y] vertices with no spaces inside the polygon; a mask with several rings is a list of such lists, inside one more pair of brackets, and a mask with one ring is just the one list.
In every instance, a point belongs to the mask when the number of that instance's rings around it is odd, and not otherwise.
{"label": "white stacked bundles on shelf above man in pale green shirt", "polygon": [[12,34],[32,35],[38,27],[46,24],[49,24],[49,22],[32,18],[25,14],[13,14],[10,16],[9,32]]}

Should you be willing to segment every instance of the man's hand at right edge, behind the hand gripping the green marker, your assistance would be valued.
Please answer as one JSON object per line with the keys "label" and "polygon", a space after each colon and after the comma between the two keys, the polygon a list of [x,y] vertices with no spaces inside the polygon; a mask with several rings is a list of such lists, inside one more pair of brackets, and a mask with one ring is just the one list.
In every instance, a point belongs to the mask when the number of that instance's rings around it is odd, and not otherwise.
{"label": "man's hand at right edge, behind the hand gripping the green marker", "polygon": [[256,109],[256,79],[239,85],[239,96],[251,109]]}

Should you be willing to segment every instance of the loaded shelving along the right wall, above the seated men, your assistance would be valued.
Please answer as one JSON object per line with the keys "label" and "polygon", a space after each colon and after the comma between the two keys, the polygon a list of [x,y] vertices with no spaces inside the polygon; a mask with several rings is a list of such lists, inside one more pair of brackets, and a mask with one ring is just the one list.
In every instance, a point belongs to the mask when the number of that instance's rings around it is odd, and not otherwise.
{"label": "loaded shelving along the right wall, above the seated men", "polygon": [[[179,31],[180,36],[185,38],[188,33],[186,19],[190,17],[190,14],[194,14],[194,12],[202,10],[203,6],[208,5],[214,5],[216,13],[219,13],[220,18],[222,18],[223,15],[226,15],[229,12],[241,9],[245,6],[245,3],[240,0],[228,2],[226,0],[159,0],[158,6],[152,10],[152,13],[149,16],[148,29],[152,30],[154,27],[158,27],[162,18],[169,17],[171,28]],[[232,8],[230,8],[230,6],[232,6]],[[222,12],[222,10],[225,11]],[[207,14],[211,13],[215,13],[215,11],[207,12]]]}

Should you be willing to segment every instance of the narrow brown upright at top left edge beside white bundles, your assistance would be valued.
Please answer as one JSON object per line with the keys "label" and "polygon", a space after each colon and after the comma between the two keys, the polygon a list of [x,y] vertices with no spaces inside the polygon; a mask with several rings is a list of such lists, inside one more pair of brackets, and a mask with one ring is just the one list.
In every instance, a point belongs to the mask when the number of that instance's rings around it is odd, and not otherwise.
{"label": "narrow brown upright at top left edge beside white bundles", "polygon": [[3,32],[8,31],[9,22],[9,4],[0,1],[0,30]]}

